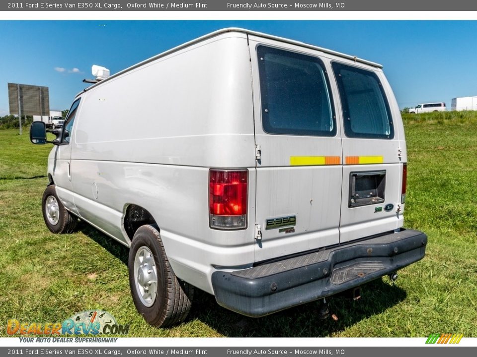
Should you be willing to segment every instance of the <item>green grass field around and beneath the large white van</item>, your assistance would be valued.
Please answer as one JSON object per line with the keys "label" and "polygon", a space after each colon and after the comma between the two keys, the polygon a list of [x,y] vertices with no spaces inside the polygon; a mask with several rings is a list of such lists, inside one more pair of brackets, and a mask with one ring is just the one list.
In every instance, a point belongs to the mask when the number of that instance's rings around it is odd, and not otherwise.
{"label": "green grass field around and beneath the large white van", "polygon": [[127,249],[86,224],[53,235],[40,201],[50,145],[0,130],[0,336],[7,319],[60,322],[86,309],[110,312],[130,336],[144,337],[477,337],[477,112],[405,115],[408,185],[405,226],[424,231],[426,257],[396,284],[365,285],[362,298],[330,299],[338,321],[309,303],[259,319],[197,292],[187,321],[149,326],[134,307]]}

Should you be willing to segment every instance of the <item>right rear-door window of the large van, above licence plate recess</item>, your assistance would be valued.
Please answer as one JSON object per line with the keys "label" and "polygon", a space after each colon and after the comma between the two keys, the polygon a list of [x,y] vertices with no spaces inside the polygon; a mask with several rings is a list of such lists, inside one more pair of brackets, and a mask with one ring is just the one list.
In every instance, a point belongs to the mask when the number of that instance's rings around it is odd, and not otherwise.
{"label": "right rear-door window of the large van, above licence plate recess", "polygon": [[376,73],[333,62],[347,137],[394,138],[391,111]]}

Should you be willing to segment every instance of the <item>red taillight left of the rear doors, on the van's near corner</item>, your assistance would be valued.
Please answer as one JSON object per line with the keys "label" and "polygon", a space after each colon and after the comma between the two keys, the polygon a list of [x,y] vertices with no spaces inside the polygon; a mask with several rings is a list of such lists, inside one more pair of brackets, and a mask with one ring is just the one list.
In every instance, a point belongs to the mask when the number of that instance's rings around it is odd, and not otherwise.
{"label": "red taillight left of the rear doors, on the van's near corner", "polygon": [[248,171],[210,170],[209,223],[211,228],[247,227]]}

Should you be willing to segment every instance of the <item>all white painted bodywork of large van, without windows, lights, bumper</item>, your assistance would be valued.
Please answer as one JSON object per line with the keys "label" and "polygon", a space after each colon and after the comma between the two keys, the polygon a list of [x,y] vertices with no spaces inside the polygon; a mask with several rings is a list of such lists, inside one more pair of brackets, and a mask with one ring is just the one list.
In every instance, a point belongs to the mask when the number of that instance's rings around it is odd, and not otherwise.
{"label": "all white painted bodywork of large van, without windows, lights, bumper", "polygon": [[[334,135],[265,132],[257,46],[322,62]],[[333,62],[379,77],[394,121],[392,139],[346,137]],[[402,227],[404,131],[392,90],[376,63],[296,41],[226,30],[115,74],[77,99],[71,143],[54,147],[49,158],[49,174],[62,202],[126,246],[132,238],[123,224],[128,206],[144,208],[159,226],[176,276],[211,294],[211,276],[217,270],[246,269]],[[379,156],[382,162],[347,165],[348,156]],[[337,161],[295,166],[294,157]],[[211,169],[247,170],[245,229],[210,228]],[[377,205],[348,208],[350,173],[363,170],[386,171],[386,202],[379,206],[393,204],[392,211],[375,213]],[[293,231],[266,229],[268,219],[287,216],[296,217]]]}

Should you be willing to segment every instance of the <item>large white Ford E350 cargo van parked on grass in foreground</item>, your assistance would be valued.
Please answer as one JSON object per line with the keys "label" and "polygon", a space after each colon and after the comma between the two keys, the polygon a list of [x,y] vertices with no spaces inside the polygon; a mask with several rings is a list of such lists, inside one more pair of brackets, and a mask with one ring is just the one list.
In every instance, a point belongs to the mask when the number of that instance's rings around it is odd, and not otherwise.
{"label": "large white Ford E350 cargo van parked on grass in foreground", "polygon": [[[381,68],[224,29],[102,79],[54,131],[45,223],[128,246],[156,326],[186,317],[193,287],[258,317],[394,278],[427,237],[402,228],[406,143]],[[46,143],[44,123],[30,136]]]}

